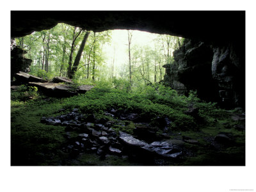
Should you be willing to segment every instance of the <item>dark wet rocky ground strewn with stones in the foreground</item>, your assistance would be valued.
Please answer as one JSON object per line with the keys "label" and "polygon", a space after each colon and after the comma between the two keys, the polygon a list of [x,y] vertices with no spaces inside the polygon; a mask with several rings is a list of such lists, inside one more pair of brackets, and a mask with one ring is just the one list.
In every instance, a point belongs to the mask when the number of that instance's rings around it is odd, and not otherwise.
{"label": "dark wet rocky ground strewn with stones in the foreground", "polygon": [[[244,113],[230,113],[230,116],[231,120],[239,124],[234,127],[228,127],[229,124],[224,126],[244,132]],[[232,132],[220,130],[213,136],[201,131],[194,132],[191,136],[191,132],[167,129],[170,124],[168,118],[157,118],[158,127],[152,127],[136,113],[109,109],[105,116],[97,118],[93,114],[79,113],[79,109],[75,108],[72,112],[60,116],[44,116],[40,122],[65,127],[65,143],[60,149],[63,158],[58,161],[58,165],[158,166],[245,163],[243,142],[237,140]]]}

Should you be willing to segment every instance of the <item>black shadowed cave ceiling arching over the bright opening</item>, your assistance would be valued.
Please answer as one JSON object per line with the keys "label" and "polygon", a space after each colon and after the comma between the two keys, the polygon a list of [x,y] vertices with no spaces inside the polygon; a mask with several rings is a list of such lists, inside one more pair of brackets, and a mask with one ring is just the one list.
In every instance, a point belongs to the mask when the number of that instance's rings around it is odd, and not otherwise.
{"label": "black shadowed cave ceiling arching over the bright opening", "polygon": [[11,37],[51,29],[60,22],[95,32],[135,29],[213,44],[244,40],[245,33],[243,11],[12,11]]}

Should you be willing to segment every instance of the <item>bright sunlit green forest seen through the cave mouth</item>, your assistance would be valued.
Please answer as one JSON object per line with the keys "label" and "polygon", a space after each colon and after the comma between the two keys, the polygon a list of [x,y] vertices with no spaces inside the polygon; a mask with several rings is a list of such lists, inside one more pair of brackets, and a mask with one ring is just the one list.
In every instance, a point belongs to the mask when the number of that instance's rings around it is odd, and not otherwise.
{"label": "bright sunlit green forest seen through the cave mouth", "polygon": [[[29,74],[68,77],[85,34],[86,30],[58,23],[54,28],[35,31],[15,41],[26,51],[25,57],[32,60]],[[74,78],[95,81],[128,79],[131,75],[134,85],[157,83],[164,79],[163,65],[174,61],[173,51],[183,42],[184,38],[178,36],[138,30],[90,31]]]}

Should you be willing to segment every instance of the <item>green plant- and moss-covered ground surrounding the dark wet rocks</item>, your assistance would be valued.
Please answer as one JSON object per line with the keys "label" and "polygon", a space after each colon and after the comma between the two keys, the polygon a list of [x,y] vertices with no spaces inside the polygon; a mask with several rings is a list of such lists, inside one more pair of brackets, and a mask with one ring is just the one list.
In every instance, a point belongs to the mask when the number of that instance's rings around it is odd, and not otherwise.
{"label": "green plant- and moss-covered ground surrounding the dark wet rocks", "polygon": [[[104,116],[104,111],[115,108],[138,113],[149,122],[154,122],[157,116],[168,117],[172,121],[168,128],[171,139],[182,140],[182,136],[187,136],[198,141],[196,144],[185,143],[186,156],[172,165],[245,164],[245,131],[234,127],[244,122],[231,118],[241,111],[219,109],[216,104],[202,102],[193,92],[189,97],[179,96],[174,90],[159,84],[131,92],[113,88],[109,83],[99,83],[88,93],[66,99],[45,97],[37,90],[26,90],[26,87],[12,91],[11,96],[12,165],[60,165],[63,160],[67,165],[141,165],[117,156],[107,156],[102,160],[96,154],[67,159],[68,155],[61,151],[66,142],[63,137],[65,127],[45,125],[40,119],[65,114],[74,108],[97,116]],[[186,113],[191,105],[199,109],[197,117]],[[124,126],[113,128],[132,133],[134,123],[124,122]],[[232,138],[232,145],[214,147],[214,136],[220,133]]]}

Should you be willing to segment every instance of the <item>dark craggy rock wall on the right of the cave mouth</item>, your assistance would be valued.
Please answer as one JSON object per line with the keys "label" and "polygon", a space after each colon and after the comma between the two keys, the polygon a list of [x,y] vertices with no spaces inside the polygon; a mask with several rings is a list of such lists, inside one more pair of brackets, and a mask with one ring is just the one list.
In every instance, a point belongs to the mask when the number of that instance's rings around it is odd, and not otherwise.
{"label": "dark craggy rock wall on the right of the cave mouth", "polygon": [[233,44],[217,46],[186,39],[173,52],[174,61],[164,65],[164,82],[179,93],[197,90],[201,99],[226,108],[244,107],[245,67],[239,51]]}

